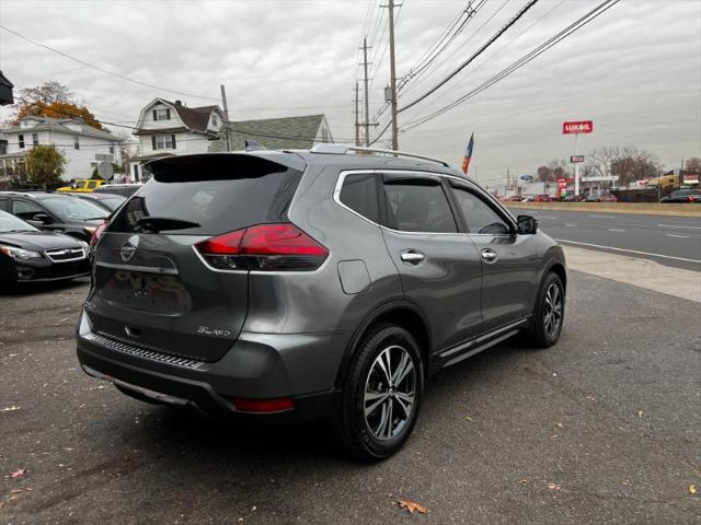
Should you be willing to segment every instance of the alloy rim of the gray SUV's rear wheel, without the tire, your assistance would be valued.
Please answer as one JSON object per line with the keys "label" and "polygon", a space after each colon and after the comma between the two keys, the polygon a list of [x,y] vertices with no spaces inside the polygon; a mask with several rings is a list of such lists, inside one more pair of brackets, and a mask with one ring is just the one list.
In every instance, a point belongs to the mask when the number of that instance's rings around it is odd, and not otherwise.
{"label": "alloy rim of the gray SUV's rear wheel, without the tire", "polygon": [[410,353],[400,346],[383,349],[372,362],[363,408],[367,427],[376,439],[397,436],[410,421],[416,400],[416,377]]}

